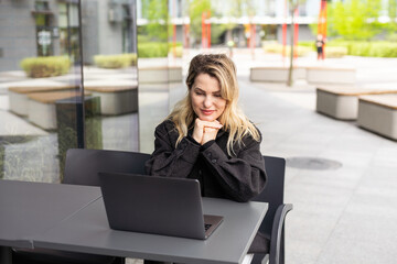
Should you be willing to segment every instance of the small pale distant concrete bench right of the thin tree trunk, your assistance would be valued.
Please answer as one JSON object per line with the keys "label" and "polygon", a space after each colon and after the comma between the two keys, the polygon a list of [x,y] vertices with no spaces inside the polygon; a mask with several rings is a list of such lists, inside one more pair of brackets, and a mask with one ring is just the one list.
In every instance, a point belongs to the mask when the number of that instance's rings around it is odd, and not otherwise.
{"label": "small pale distant concrete bench right of the thin tree trunk", "polygon": [[336,67],[307,67],[307,81],[309,84],[355,84],[355,68]]}

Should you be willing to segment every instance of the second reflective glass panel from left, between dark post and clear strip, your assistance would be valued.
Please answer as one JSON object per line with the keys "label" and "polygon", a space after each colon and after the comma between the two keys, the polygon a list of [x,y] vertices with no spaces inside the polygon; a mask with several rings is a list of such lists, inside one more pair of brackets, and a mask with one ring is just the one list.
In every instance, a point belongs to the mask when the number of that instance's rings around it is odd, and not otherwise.
{"label": "second reflective glass panel from left, between dark post and clear strip", "polygon": [[135,1],[82,1],[87,148],[139,148],[135,14]]}

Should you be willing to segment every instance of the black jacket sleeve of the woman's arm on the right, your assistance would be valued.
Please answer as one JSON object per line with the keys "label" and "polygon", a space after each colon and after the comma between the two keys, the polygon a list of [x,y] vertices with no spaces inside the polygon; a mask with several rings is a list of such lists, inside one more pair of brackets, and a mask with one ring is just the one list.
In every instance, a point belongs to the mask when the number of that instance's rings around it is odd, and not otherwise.
{"label": "black jacket sleeve of the woman's arm on the right", "polygon": [[213,142],[203,151],[203,156],[211,167],[214,177],[224,191],[236,201],[248,201],[256,197],[266,184],[264,157],[260,154],[260,142],[247,139],[246,144],[236,157],[228,157]]}

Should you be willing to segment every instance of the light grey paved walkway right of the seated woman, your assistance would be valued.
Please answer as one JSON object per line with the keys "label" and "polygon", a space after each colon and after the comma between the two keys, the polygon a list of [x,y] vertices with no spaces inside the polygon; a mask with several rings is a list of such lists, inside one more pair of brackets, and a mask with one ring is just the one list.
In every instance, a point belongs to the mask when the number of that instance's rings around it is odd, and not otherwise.
{"label": "light grey paved walkway right of the seated woman", "polygon": [[[315,87],[249,82],[244,55],[235,59],[242,103],[264,135],[262,154],[287,158],[286,202],[294,209],[287,221],[286,262],[396,263],[397,142],[316,113]],[[313,57],[298,64],[310,59],[318,64]],[[397,89],[397,59],[345,57],[324,64],[355,66],[358,86]],[[341,166],[296,168],[297,157]]]}

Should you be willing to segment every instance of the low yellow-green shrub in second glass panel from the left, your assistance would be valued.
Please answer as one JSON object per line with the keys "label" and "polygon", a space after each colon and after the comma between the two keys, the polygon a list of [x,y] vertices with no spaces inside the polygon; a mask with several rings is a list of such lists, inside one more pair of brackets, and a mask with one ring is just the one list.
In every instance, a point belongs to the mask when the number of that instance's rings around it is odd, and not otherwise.
{"label": "low yellow-green shrub in second glass panel from the left", "polygon": [[137,65],[137,54],[95,55],[94,63],[99,68],[125,68]]}

